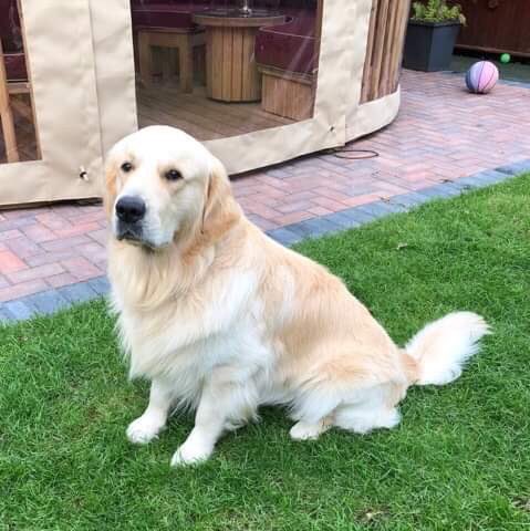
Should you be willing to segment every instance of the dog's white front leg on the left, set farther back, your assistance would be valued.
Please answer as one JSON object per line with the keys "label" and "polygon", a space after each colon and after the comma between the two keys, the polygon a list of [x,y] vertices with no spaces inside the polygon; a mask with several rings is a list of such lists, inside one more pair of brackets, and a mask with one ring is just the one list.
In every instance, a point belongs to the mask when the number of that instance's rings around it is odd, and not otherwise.
{"label": "dog's white front leg on the left, set farther back", "polygon": [[149,405],[144,414],[131,423],[127,438],[131,442],[145,445],[153,440],[166,426],[167,415],[172,407],[172,389],[158,379],[150,384]]}

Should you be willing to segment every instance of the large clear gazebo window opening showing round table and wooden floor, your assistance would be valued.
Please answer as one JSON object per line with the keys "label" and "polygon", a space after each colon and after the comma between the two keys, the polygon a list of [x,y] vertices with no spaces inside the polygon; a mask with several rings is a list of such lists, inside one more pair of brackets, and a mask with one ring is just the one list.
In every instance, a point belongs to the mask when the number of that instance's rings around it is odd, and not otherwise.
{"label": "large clear gazebo window opening showing round table and wooden floor", "polygon": [[214,140],[309,119],[318,0],[132,0],[138,123]]}

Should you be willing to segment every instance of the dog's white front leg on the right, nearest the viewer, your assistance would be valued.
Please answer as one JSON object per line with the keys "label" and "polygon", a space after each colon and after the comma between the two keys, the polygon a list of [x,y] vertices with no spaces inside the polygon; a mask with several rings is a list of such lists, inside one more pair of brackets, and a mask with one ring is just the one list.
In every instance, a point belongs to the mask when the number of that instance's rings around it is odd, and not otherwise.
{"label": "dog's white front leg on the right, nearest the viewer", "polygon": [[[245,385],[245,392],[243,392]],[[205,385],[195,417],[195,427],[172,459],[172,466],[208,459],[225,428],[253,414],[248,384],[226,379],[216,374]]]}

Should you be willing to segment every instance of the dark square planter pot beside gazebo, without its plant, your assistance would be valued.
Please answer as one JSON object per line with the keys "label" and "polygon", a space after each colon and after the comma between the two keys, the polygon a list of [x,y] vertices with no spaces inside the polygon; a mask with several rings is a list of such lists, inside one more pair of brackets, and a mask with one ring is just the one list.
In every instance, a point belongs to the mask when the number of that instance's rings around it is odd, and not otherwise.
{"label": "dark square planter pot beside gazebo, without its plant", "polygon": [[409,20],[403,66],[423,72],[448,70],[460,25]]}

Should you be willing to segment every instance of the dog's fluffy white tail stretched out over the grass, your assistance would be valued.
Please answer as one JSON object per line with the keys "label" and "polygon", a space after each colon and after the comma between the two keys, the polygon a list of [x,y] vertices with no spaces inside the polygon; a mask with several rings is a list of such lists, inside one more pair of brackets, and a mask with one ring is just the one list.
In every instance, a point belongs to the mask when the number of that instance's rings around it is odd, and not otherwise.
{"label": "dog's fluffy white tail stretched out over the grass", "polygon": [[480,339],[490,333],[476,313],[455,312],[427,324],[405,346],[416,362],[416,385],[444,385],[460,376],[466,362],[479,351]]}

